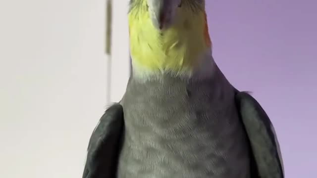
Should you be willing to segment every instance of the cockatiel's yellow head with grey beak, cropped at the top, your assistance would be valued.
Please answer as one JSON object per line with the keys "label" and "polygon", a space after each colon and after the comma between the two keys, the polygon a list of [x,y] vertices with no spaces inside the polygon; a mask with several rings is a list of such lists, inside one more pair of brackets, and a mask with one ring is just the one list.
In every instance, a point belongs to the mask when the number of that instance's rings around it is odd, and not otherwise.
{"label": "cockatiel's yellow head with grey beak, cropped at the top", "polygon": [[130,0],[128,19],[134,71],[189,74],[211,50],[205,0]]}

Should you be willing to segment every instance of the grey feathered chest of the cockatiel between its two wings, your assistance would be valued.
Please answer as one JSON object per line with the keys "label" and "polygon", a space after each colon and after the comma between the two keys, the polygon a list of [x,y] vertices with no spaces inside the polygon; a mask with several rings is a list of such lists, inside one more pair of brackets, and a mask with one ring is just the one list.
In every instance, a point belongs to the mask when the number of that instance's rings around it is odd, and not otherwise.
{"label": "grey feathered chest of the cockatiel between its two wings", "polygon": [[233,97],[225,80],[131,80],[119,178],[249,178]]}

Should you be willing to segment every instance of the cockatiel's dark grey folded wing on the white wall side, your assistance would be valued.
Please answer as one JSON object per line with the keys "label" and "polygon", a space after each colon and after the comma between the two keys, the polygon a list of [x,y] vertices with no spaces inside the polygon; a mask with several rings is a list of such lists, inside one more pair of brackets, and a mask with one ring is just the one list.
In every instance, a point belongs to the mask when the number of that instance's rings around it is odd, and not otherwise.
{"label": "cockatiel's dark grey folded wing on the white wall side", "polygon": [[123,108],[114,104],[106,110],[90,137],[83,178],[116,177],[123,132]]}

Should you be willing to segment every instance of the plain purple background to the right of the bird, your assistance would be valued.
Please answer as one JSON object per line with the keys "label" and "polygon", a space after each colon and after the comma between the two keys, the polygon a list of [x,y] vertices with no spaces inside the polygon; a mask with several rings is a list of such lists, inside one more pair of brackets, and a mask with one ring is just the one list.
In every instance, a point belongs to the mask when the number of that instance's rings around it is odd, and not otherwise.
{"label": "plain purple background to the right of the bird", "polygon": [[206,3],[213,57],[271,118],[285,177],[316,177],[317,0]]}

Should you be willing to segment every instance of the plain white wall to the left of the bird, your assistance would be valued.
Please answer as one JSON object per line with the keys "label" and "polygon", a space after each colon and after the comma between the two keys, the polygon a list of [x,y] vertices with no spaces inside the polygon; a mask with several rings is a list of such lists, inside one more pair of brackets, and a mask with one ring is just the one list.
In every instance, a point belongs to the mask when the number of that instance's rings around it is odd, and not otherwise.
{"label": "plain white wall to the left of the bird", "polygon": [[[114,8],[111,100],[129,73],[127,6]],[[105,0],[0,1],[0,178],[81,177],[106,107],[104,44]]]}

